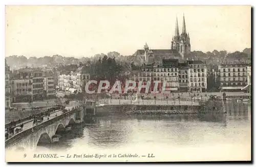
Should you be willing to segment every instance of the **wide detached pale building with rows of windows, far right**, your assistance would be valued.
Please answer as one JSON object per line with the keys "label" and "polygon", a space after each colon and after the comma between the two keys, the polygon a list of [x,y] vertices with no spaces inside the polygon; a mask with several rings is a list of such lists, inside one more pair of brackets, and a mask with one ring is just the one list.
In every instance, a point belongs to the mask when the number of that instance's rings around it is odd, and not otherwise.
{"label": "wide detached pale building with rows of windows, far right", "polygon": [[226,62],[219,65],[219,80],[222,91],[241,91],[247,85],[245,62]]}

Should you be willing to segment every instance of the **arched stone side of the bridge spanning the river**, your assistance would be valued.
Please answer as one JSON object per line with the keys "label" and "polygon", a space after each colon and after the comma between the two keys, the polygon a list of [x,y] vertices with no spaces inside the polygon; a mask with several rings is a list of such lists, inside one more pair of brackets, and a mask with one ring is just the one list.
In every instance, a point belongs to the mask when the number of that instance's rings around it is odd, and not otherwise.
{"label": "arched stone side of the bridge spanning the river", "polygon": [[[91,109],[91,107],[89,108]],[[5,147],[8,150],[34,150],[38,145],[50,144],[52,137],[57,132],[65,131],[67,127],[83,122],[87,112],[87,107],[82,106],[63,113],[10,137],[5,141]],[[95,114],[95,110],[93,110],[93,114]]]}

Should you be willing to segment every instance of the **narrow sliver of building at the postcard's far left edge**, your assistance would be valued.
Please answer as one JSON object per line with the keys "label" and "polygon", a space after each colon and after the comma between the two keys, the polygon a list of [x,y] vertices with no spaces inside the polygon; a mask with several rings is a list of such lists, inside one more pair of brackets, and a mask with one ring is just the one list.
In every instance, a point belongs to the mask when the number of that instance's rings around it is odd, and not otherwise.
{"label": "narrow sliver of building at the postcard's far left edge", "polygon": [[5,60],[5,107],[11,107],[11,97],[10,97],[10,67],[7,65]]}

